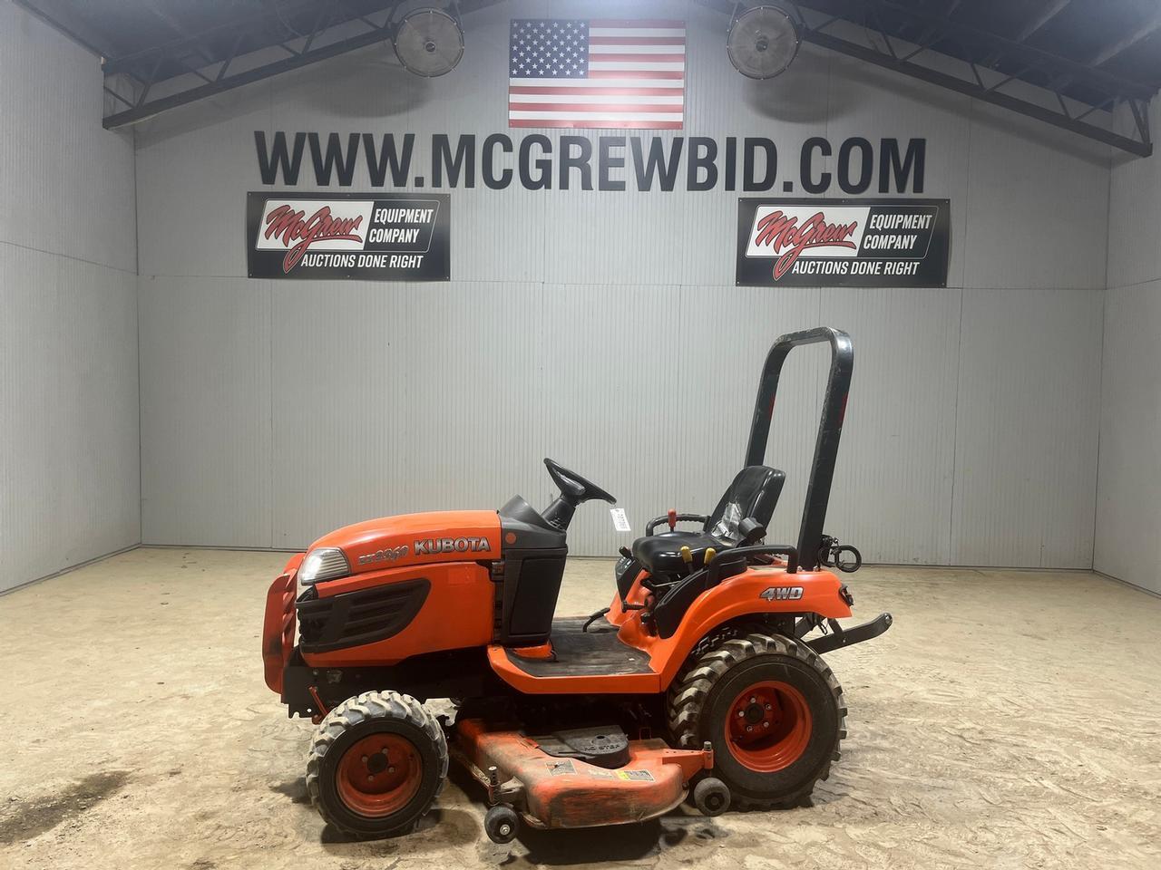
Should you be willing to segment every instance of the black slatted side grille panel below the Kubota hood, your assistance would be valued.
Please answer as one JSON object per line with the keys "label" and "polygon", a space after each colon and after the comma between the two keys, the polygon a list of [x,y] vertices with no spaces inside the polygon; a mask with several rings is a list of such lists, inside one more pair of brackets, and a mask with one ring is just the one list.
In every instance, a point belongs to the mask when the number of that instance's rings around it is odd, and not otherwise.
{"label": "black slatted side grille panel below the Kubota hood", "polygon": [[427,600],[431,581],[402,580],[329,597],[298,599],[298,646],[323,653],[398,635]]}

